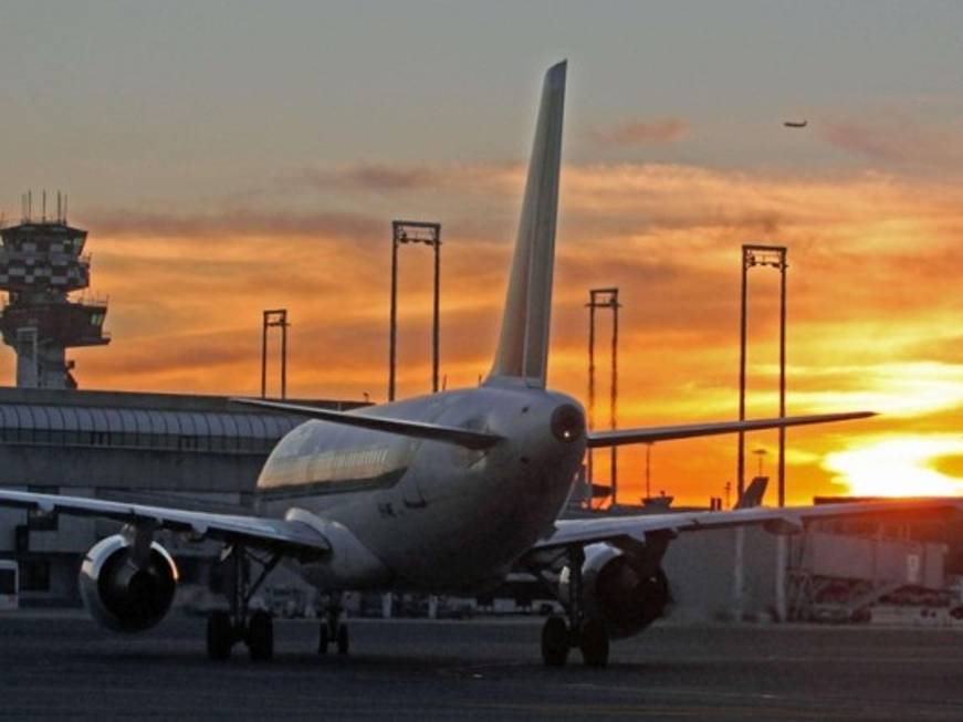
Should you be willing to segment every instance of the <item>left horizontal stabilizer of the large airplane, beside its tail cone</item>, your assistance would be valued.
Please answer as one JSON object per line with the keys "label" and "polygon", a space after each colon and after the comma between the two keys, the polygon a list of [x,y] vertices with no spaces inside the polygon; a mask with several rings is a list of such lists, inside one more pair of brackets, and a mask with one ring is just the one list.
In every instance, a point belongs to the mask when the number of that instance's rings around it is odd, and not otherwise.
{"label": "left horizontal stabilizer of the large airplane, beside its tail cone", "polygon": [[489,433],[488,431],[474,431],[458,427],[440,426],[438,423],[426,423],[423,421],[409,421],[407,419],[392,419],[384,416],[365,416],[360,414],[348,414],[345,411],[333,411],[331,409],[318,409],[313,406],[303,406],[300,404],[284,404],[281,401],[265,401],[262,399],[248,398],[232,398],[231,402],[258,406],[265,409],[285,411],[287,414],[296,414],[299,416],[318,419],[320,421],[329,421],[331,423],[341,423],[344,426],[356,426],[373,431],[385,431],[387,433],[397,433],[400,436],[414,437],[416,439],[428,439],[430,441],[453,443],[473,450],[488,449],[503,439],[503,437],[500,437],[496,433]]}

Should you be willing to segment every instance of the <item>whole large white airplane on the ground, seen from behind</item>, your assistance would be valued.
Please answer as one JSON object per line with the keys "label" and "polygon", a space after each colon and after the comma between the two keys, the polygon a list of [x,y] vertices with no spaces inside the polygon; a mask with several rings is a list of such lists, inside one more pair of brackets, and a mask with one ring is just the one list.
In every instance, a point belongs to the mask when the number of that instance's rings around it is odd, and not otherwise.
{"label": "whole large white airplane on the ground, seen from behind", "polygon": [[635,635],[662,614],[669,586],[661,559],[680,533],[744,524],[785,532],[813,520],[952,505],[850,503],[558,519],[586,448],[870,416],[588,432],[582,405],[547,388],[565,73],[562,62],[545,76],[501,335],[491,373],[479,388],[346,412],[242,400],[310,419],[271,452],[251,515],[0,491],[0,505],[124,524],[87,552],[81,568],[82,596],[97,620],[136,632],[164,618],[178,571],[156,534],[171,530],[191,541],[221,542],[232,569],[230,611],[208,618],[212,659],[229,657],[237,642],[244,642],[253,659],[272,657],[271,617],[250,603],[268,573],[284,563],[332,599],[320,628],[321,652],[332,645],[348,651],[341,590],[472,594],[523,568],[565,609],[543,628],[545,663],[564,665],[578,648],[588,665],[603,666],[610,639]]}

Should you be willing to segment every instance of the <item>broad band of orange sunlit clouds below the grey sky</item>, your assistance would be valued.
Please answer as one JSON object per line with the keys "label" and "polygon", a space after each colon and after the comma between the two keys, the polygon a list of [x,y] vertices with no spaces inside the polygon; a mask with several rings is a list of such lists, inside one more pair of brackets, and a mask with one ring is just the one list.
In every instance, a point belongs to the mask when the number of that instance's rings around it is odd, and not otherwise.
{"label": "broad band of orange sunlit clouds below the grey sky", "polygon": [[[114,342],[71,352],[82,388],[257,393],[261,310],[280,306],[293,324],[291,395],[384,399],[390,220],[399,212],[442,222],[441,369],[449,388],[474,385],[495,344],[523,167],[315,170],[287,178],[285,197],[252,196],[241,210],[224,201],[196,213],[88,214]],[[963,313],[959,184],[894,171],[568,164],[558,229],[552,385],[585,398],[587,290],[618,285],[621,426],[736,412],[740,245],[760,241],[789,248],[791,411],[892,411],[865,425],[794,430],[792,499],[828,492],[814,458],[857,436],[877,427],[940,432],[963,421],[948,400],[963,373],[954,331]],[[429,258],[417,248],[400,257],[402,396],[429,387]],[[750,408],[758,415],[775,409],[776,281],[751,276]],[[2,368],[11,368],[9,354]],[[597,411],[607,418],[601,376],[599,384]],[[774,437],[761,432],[756,442]],[[724,438],[660,444],[656,483],[693,501],[719,495],[734,448]],[[619,457],[629,494],[639,453]]]}

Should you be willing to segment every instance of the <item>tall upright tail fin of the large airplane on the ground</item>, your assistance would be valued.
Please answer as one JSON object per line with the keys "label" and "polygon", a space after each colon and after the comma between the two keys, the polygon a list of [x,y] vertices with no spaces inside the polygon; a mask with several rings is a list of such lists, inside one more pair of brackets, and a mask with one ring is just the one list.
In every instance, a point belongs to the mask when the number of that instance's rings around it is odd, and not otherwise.
{"label": "tall upright tail fin of the large airplane on the ground", "polygon": [[485,381],[521,378],[545,388],[562,163],[566,61],[545,74],[499,348]]}

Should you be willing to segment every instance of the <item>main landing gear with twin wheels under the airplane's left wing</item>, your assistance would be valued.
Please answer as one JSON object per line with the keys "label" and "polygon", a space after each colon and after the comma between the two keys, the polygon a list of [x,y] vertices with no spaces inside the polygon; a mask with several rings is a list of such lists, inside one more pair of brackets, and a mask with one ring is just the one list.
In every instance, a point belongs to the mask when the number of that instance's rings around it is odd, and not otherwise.
{"label": "main landing gear with twin wheels under the airplane's left wing", "polygon": [[[208,617],[207,651],[213,660],[224,660],[231,656],[231,648],[239,641],[248,646],[248,652],[254,661],[263,661],[274,656],[274,622],[271,615],[263,609],[250,610],[251,598],[271,573],[280,555],[261,558],[235,544],[227,550],[224,558],[233,572],[233,588],[231,589],[230,611],[218,610]],[[261,574],[251,583],[251,565],[253,559],[261,565]]]}

